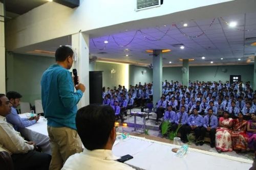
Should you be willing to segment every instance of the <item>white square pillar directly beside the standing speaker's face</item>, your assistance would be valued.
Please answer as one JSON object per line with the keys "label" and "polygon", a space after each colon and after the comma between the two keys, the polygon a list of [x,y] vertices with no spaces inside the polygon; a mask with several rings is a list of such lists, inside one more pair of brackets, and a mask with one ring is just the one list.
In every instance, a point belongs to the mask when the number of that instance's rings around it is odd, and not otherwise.
{"label": "white square pillar directly beside the standing speaker's face", "polygon": [[77,59],[74,61],[73,68],[77,69],[80,83],[86,86],[86,91],[83,93],[81,101],[78,103],[78,108],[90,104],[89,98],[89,35],[77,33],[72,35],[72,47],[75,48]]}

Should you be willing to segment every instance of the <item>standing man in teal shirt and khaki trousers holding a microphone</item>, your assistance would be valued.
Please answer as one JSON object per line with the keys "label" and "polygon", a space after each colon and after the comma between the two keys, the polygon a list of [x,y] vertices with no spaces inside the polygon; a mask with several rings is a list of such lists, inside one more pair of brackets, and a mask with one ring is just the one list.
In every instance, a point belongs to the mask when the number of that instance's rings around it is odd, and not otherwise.
{"label": "standing man in teal shirt and khaki trousers holding a microphone", "polygon": [[61,169],[69,156],[82,151],[82,143],[76,131],[77,103],[86,87],[75,85],[69,69],[72,67],[72,47],[60,46],[55,52],[56,64],[51,65],[41,78],[42,108],[48,119],[52,161],[50,170]]}

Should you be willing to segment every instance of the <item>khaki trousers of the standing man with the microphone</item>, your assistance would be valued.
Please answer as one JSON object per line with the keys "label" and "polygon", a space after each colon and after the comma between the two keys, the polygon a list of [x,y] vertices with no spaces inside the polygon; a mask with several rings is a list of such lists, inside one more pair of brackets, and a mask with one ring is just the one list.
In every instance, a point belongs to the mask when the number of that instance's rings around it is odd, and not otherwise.
{"label": "khaki trousers of the standing man with the microphone", "polygon": [[82,152],[82,142],[76,130],[68,127],[47,127],[52,151],[49,170],[60,170],[65,161]]}

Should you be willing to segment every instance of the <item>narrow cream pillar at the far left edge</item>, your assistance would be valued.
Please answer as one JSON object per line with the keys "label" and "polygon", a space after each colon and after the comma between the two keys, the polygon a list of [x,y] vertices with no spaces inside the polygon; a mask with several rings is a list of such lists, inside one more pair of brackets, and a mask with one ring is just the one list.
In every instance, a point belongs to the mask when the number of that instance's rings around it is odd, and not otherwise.
{"label": "narrow cream pillar at the far left edge", "polygon": [[[4,4],[0,3],[0,15],[4,15]],[[5,87],[5,18],[0,16],[0,93],[6,93]]]}

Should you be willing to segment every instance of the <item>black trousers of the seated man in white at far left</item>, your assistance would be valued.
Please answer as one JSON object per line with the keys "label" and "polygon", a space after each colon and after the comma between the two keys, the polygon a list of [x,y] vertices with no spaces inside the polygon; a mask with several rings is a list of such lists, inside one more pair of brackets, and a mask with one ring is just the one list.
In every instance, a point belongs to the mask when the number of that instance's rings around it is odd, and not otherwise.
{"label": "black trousers of the seated man in white at far left", "polygon": [[26,154],[11,155],[15,170],[48,170],[52,159],[51,155],[29,151]]}

